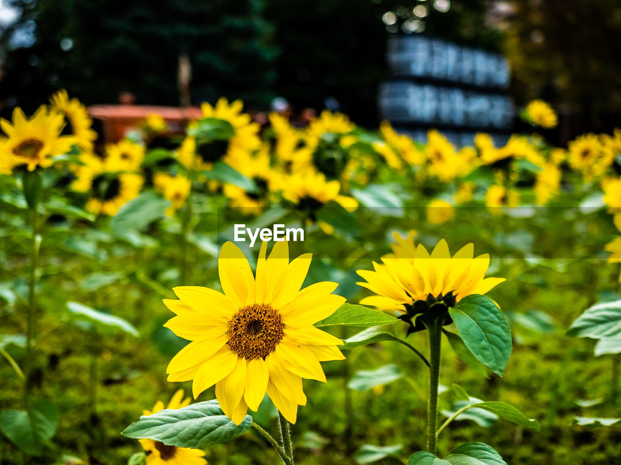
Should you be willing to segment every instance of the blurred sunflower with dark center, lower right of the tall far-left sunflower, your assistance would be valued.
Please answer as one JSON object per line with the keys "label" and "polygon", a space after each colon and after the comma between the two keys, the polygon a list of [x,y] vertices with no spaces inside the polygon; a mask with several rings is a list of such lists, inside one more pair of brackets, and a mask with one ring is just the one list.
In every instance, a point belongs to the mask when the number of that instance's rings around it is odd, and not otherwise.
{"label": "blurred sunflower with dark center, lower right of the tall far-left sunflower", "polygon": [[76,179],[71,188],[89,194],[86,210],[94,215],[115,215],[121,206],[140,193],[142,176],[122,172],[118,159],[101,158],[92,153],[80,154],[79,159],[82,164],[75,168]]}

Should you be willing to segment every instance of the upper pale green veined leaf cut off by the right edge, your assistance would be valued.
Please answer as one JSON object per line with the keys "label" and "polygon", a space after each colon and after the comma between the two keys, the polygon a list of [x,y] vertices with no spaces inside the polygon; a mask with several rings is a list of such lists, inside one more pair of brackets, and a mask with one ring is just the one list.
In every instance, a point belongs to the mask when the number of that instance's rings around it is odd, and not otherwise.
{"label": "upper pale green veined leaf cut off by the right edge", "polygon": [[567,335],[592,339],[621,339],[621,300],[587,308],[571,324]]}

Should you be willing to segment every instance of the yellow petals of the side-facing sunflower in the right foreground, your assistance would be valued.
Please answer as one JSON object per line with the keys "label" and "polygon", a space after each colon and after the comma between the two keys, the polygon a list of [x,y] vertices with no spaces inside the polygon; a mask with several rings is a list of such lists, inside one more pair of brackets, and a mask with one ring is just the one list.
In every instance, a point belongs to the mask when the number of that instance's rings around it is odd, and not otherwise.
{"label": "yellow petals of the side-facing sunflower in the right foreground", "polygon": [[[414,246],[414,244],[412,244]],[[358,270],[366,282],[357,283],[375,293],[360,301],[381,309],[406,312],[415,301],[443,301],[453,306],[471,294],[485,294],[504,278],[484,278],[489,255],[474,257],[473,244],[466,244],[453,257],[445,239],[431,254],[418,244],[414,255],[382,257],[383,264],[373,262],[374,271]]]}

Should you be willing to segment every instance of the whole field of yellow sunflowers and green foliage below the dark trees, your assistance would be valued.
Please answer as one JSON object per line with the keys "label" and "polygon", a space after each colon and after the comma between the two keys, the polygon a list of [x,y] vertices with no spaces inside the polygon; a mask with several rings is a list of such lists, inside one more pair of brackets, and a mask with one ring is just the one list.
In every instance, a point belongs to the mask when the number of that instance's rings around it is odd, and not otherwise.
{"label": "whole field of yellow sunflowers and green foliage below the dark trees", "polygon": [[621,130],[0,120],[0,463],[620,463]]}

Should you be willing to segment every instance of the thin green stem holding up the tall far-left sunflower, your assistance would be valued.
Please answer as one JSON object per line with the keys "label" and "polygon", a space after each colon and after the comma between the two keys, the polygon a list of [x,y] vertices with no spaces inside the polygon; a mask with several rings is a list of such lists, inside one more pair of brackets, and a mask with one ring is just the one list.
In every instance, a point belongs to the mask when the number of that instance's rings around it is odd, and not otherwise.
{"label": "thin green stem holding up the tall far-left sunflower", "polygon": [[30,281],[28,288],[28,319],[26,326],[26,358],[24,361],[24,408],[28,408],[30,396],[30,381],[32,379],[32,342],[37,331],[37,268],[39,267],[39,211],[30,210],[32,218],[30,236]]}

